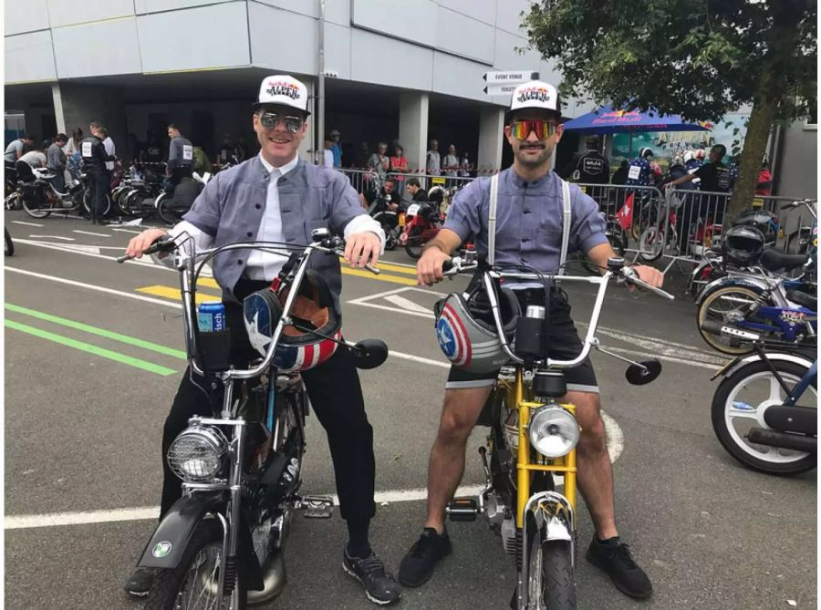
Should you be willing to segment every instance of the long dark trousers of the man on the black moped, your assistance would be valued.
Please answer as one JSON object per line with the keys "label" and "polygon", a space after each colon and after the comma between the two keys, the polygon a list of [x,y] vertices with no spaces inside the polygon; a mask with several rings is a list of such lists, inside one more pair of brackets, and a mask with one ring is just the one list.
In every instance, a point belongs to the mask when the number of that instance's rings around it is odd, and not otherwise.
{"label": "long dark trousers of the man on the black moped", "polygon": [[[248,343],[242,323],[242,308],[226,304],[225,315],[234,344],[232,358],[239,361],[248,354],[245,351]],[[235,333],[235,330],[239,332]],[[237,340],[234,340],[235,336]],[[247,363],[247,359],[244,362]],[[246,367],[246,364],[241,366]],[[217,399],[210,402],[203,390],[192,383],[191,377],[205,388],[203,377],[191,376],[186,370],[162,430],[161,519],[182,495],[182,481],[171,472],[165,460],[171,442],[188,426],[189,418],[194,415],[210,416],[222,408],[222,401]],[[345,520],[367,523],[376,512],[373,501],[376,466],[373,457],[373,429],[365,414],[365,402],[354,359],[348,349],[338,346],[333,357],[321,366],[303,372],[302,378],[312,412],[316,413],[327,434],[334,462],[339,512]]]}

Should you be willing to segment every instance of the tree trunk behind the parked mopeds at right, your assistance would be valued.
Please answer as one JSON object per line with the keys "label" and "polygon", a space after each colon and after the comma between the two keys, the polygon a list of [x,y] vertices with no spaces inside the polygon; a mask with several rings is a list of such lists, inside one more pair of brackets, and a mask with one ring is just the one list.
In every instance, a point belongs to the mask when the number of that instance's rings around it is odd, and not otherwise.
{"label": "tree trunk behind the parked mopeds at right", "polygon": [[770,52],[764,59],[758,79],[758,91],[753,98],[753,112],[744,136],[744,149],[738,179],[733,187],[733,195],[727,207],[724,224],[729,224],[744,208],[753,204],[758,172],[767,145],[767,136],[773,125],[775,112],[785,95],[783,66],[790,61],[795,51],[795,25],[801,14],[802,5],[779,0],[773,3],[773,27],[767,44]]}

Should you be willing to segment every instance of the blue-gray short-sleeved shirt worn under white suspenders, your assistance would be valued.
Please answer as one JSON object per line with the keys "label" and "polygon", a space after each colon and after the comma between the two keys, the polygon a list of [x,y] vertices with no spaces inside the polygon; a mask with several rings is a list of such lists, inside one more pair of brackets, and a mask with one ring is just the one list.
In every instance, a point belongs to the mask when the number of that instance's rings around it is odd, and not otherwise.
{"label": "blue-gray short-sleeved shirt worn under white suspenders", "polygon": [[[490,178],[479,178],[453,198],[444,228],[462,241],[476,236],[476,251],[487,255],[487,219],[490,207]],[[607,243],[605,222],[598,204],[576,184],[570,185],[571,224],[567,253],[587,253]],[[496,201],[497,265],[526,264],[540,272],[556,270],[562,247],[562,181],[556,172],[526,182],[513,168],[499,174]]]}

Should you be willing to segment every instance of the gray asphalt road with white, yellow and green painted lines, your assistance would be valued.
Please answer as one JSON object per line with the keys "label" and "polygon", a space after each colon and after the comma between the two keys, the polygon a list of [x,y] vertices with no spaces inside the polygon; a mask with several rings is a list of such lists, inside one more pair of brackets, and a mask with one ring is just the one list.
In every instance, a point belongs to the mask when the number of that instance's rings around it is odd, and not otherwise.
{"label": "gray asphalt road with white, yellow and green painted lines", "polygon": [[[161,426],[184,368],[174,351],[182,348],[176,275],[113,262],[133,227],[36,221],[23,212],[5,220],[16,239],[5,260],[5,607],[140,607],[121,583],[154,524]],[[372,542],[395,570],[424,517],[421,490],[447,368],[429,313],[436,291],[412,285],[405,253],[386,259],[396,266],[379,278],[346,274],[343,301],[346,336],[379,336],[393,353],[361,378],[377,490],[387,499]],[[592,293],[571,293],[574,317],[585,322]],[[693,317],[687,299],[668,303],[620,288],[608,295],[602,344],[622,356],[663,358],[654,384],[633,387],[626,364],[593,356],[618,457],[619,530],[654,594],[632,602],[589,566],[583,551],[592,527],[581,511],[579,608],[814,608],[816,472],[769,477],[722,450],[709,411],[710,377],[723,360],[702,344]],[[477,430],[469,443],[463,484],[482,482],[482,436]],[[327,443],[313,419],[308,443],[304,489],[333,493]],[[506,608],[514,567],[501,541],[481,521],[449,529],[454,553],[429,584],[405,591],[400,607]],[[340,569],[344,540],[338,516],[297,517],[286,549],[289,584],[270,607],[372,607]]]}

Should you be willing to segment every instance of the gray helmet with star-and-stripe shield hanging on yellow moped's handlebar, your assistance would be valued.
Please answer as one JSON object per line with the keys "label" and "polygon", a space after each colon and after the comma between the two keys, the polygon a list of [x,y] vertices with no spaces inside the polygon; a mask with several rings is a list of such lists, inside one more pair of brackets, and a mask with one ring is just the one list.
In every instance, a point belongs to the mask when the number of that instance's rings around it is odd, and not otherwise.
{"label": "gray helmet with star-and-stripe shield hanging on yellow moped's handlebar", "polygon": [[[513,339],[521,307],[508,290],[497,292],[502,330],[508,342]],[[454,367],[470,373],[490,373],[508,361],[490,305],[483,293],[451,293],[436,305],[436,340],[442,354]]]}

